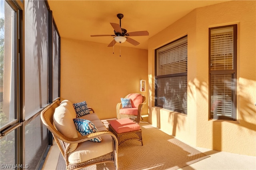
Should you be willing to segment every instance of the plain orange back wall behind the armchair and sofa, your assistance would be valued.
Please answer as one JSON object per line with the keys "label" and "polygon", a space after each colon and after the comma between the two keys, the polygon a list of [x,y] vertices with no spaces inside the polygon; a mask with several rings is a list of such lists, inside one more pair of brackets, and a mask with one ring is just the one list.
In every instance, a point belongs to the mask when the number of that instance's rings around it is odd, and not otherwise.
{"label": "plain orange back wall behind the armchair and sofa", "polygon": [[[127,43],[127,42],[126,42]],[[86,101],[100,119],[116,118],[116,104],[129,93],[140,92],[148,78],[148,51],[120,45],[61,39],[61,100]],[[142,115],[148,115],[143,107]]]}

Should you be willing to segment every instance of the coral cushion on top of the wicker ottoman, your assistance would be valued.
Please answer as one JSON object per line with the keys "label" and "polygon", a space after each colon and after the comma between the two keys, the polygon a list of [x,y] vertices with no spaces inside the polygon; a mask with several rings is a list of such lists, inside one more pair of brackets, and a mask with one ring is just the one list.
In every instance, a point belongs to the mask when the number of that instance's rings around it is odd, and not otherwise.
{"label": "coral cushion on top of the wicker ottoman", "polygon": [[134,123],[129,118],[117,119],[110,121],[110,125],[117,133],[130,132],[134,130],[140,130],[140,125]]}

